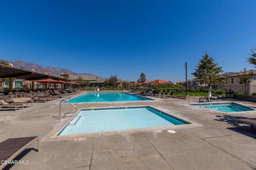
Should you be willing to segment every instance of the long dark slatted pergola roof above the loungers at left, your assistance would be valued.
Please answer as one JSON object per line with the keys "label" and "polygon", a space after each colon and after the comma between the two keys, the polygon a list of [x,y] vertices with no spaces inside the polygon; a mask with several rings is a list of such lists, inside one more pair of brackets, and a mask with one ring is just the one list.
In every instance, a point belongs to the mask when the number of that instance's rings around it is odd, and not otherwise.
{"label": "long dark slatted pergola roof above the loungers at left", "polygon": [[[36,71],[28,71],[16,67],[11,67],[8,65],[0,65],[0,78],[9,78],[9,90],[12,91],[12,81],[13,78],[24,79],[24,80],[42,80],[42,79],[54,79],[68,81],[61,77],[55,77],[52,75],[47,75],[45,73],[38,73]],[[32,82],[34,83],[34,82]]]}

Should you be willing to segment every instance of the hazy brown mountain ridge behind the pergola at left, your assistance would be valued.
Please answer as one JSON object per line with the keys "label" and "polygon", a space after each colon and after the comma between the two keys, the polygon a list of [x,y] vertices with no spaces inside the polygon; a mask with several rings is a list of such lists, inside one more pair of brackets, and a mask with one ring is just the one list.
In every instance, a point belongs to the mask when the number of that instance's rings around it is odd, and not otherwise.
{"label": "hazy brown mountain ridge behind the pergola at left", "polygon": [[52,66],[47,66],[44,67],[42,65],[37,65],[34,63],[30,62],[24,62],[24,61],[10,61],[10,63],[13,64],[14,67],[16,68],[22,68],[24,70],[29,70],[34,69],[36,72],[47,72],[48,74],[55,74],[55,75],[60,75],[60,73],[70,73],[71,75],[93,75],[90,73],[75,73],[73,71],[70,71],[68,69],[63,69],[63,68],[57,68],[57,67],[52,67]]}

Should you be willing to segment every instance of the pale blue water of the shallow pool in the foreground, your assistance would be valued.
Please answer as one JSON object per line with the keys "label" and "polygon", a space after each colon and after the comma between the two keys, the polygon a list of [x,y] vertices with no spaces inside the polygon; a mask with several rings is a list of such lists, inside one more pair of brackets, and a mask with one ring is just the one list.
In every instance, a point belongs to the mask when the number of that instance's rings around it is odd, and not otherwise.
{"label": "pale blue water of the shallow pool in the foreground", "polygon": [[189,124],[152,107],[81,110],[58,134],[82,134]]}

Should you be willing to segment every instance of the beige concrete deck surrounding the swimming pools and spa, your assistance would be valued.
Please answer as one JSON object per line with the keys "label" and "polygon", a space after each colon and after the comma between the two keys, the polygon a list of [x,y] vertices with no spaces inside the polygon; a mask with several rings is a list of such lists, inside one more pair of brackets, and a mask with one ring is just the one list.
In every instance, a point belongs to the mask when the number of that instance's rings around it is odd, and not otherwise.
{"label": "beige concrete deck surrounding the swimming pools and spa", "polygon": [[[78,95],[81,94],[83,93]],[[250,129],[250,125],[240,124],[239,130],[236,130],[236,119],[256,118],[256,111],[224,113],[192,106],[184,99],[155,97],[153,99],[156,100],[74,105],[78,107],[78,111],[151,106],[191,124],[56,136],[72,119],[72,117],[58,119],[60,99],[47,103],[33,103],[32,107],[17,111],[0,111],[0,142],[8,138],[40,137],[40,152],[36,152],[35,143],[16,157],[16,160],[24,160],[28,164],[7,165],[5,169],[252,170],[256,168],[256,128]],[[212,100],[211,103],[230,101],[256,109],[255,103],[236,99]],[[73,110],[70,105],[62,104],[62,115],[64,111]],[[175,130],[176,133],[168,133],[167,130]]]}

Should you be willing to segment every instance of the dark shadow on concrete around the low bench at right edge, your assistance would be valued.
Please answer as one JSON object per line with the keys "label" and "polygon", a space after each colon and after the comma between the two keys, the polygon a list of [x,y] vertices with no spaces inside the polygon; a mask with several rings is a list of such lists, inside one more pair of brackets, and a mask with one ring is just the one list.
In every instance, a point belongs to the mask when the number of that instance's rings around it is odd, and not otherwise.
{"label": "dark shadow on concrete around the low bench at right edge", "polygon": [[239,129],[238,130],[236,129],[236,119],[246,119],[248,117],[230,116],[230,115],[222,115],[222,116],[216,115],[216,117],[218,119],[214,119],[215,121],[226,122],[229,125],[234,126],[232,128],[228,128],[228,129],[256,139],[256,127],[255,126],[253,129],[251,129],[250,125],[244,124],[244,123],[239,123]]}

